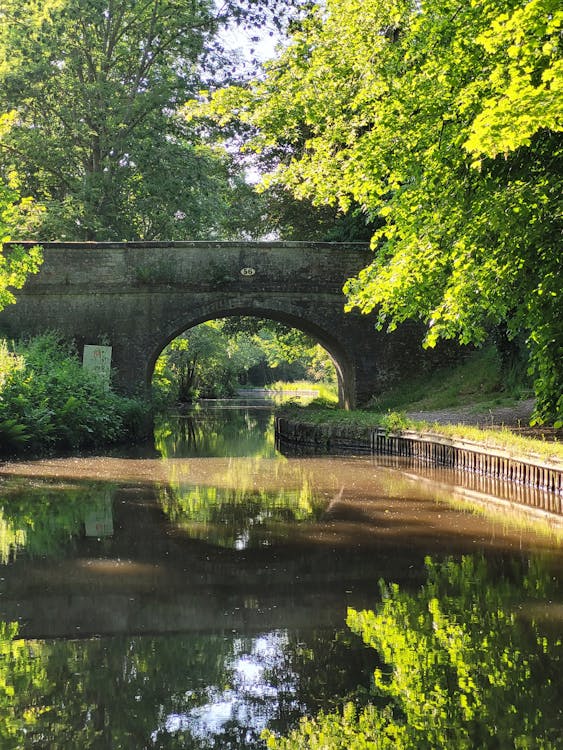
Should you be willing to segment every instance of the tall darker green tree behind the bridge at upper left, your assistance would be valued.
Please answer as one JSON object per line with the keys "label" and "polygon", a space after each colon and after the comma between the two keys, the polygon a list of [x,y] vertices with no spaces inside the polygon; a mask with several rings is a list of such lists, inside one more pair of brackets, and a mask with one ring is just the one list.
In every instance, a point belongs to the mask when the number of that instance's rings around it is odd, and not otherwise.
{"label": "tall darker green tree behind the bridge at upper left", "polygon": [[16,186],[44,204],[36,236],[198,239],[231,231],[222,221],[232,223],[244,192],[241,169],[177,111],[202,86],[235,73],[220,28],[281,25],[297,5],[5,0],[0,113],[13,118],[0,173],[17,172]]}

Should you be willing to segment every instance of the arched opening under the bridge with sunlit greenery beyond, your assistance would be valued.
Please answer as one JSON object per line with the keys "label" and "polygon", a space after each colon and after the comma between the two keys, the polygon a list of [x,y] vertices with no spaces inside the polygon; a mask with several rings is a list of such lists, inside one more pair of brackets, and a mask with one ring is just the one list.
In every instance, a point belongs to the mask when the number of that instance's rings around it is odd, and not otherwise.
{"label": "arched opening under the bridge with sunlit greenery beyond", "polygon": [[349,408],[352,372],[339,343],[308,321],[272,310],[221,310],[171,328],[151,354],[147,384],[175,374],[179,400],[190,401],[280,380],[309,381],[330,399],[332,382],[339,405]]}

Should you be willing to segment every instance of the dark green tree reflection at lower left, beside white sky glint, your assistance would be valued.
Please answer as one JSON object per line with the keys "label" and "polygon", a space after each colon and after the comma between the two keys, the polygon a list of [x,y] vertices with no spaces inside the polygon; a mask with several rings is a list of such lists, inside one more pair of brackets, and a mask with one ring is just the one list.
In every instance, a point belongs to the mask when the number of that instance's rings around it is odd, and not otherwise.
{"label": "dark green tree reflection at lower left, beside white sky glint", "polygon": [[229,681],[221,636],[23,641],[0,625],[2,748],[182,747],[169,716]]}

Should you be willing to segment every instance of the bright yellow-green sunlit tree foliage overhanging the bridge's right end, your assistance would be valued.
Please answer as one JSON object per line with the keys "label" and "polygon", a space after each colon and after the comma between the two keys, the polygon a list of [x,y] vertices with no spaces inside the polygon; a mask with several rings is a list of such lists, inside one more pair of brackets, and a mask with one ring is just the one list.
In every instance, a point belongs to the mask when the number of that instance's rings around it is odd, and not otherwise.
{"label": "bright yellow-green sunlit tree foliage overhanging the bridge's right end", "polygon": [[525,331],[536,421],[563,403],[562,17],[555,0],[327,0],[265,78],[203,106],[280,152],[267,185],[380,223],[350,308],[420,318],[427,346]]}

